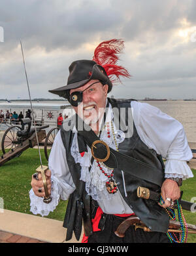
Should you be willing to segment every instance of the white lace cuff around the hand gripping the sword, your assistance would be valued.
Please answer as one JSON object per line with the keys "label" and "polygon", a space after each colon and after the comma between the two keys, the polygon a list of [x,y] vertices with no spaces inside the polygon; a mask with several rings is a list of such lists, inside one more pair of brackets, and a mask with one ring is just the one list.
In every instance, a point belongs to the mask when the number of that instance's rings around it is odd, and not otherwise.
{"label": "white lace cuff around the hand gripping the sword", "polygon": [[58,186],[58,182],[54,177],[51,177],[52,187],[51,187],[51,197],[52,201],[50,203],[44,203],[43,198],[35,196],[33,189],[29,191],[30,211],[31,213],[37,215],[40,214],[42,217],[47,216],[50,211],[54,211],[59,203],[59,198],[61,194],[61,188]]}

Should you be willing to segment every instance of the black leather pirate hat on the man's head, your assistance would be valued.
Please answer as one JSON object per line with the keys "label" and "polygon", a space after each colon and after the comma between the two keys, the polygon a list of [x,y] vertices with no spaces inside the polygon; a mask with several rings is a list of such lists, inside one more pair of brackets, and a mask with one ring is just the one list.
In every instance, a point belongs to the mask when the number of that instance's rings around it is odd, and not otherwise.
{"label": "black leather pirate hat on the man's head", "polygon": [[108,85],[108,93],[112,89],[110,81],[105,69],[93,60],[76,60],[69,66],[69,77],[67,85],[50,90],[50,93],[68,98],[68,91],[85,85],[90,80],[97,79],[103,85]]}

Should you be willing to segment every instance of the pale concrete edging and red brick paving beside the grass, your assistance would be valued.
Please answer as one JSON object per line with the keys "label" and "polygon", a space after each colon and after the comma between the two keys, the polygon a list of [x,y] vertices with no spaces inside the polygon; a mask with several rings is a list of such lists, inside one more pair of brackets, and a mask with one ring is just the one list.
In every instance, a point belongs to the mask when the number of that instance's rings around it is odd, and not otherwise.
{"label": "pale concrete edging and red brick paving beside the grass", "polygon": [[65,241],[66,228],[63,221],[56,221],[19,213],[17,211],[0,211],[1,243],[80,243],[73,235],[72,240]]}

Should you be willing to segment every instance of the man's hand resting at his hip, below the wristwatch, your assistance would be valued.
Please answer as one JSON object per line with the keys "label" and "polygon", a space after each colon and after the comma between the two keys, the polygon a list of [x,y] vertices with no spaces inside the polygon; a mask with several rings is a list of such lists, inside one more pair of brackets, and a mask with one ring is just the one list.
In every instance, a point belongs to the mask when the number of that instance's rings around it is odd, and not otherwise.
{"label": "man's hand resting at his hip, below the wristwatch", "polygon": [[171,202],[169,202],[169,200],[166,200],[166,198],[171,198],[172,201],[180,198],[180,188],[179,188],[177,182],[172,181],[170,179],[165,179],[165,181],[163,182],[163,185],[161,187],[161,194],[162,194],[163,201],[165,202],[161,206],[163,208],[170,207]]}

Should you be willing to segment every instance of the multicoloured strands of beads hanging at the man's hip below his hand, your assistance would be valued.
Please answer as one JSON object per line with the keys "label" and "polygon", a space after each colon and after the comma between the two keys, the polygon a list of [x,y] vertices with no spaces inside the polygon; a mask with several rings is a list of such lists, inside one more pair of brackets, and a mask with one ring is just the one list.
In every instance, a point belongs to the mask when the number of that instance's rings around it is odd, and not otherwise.
{"label": "multicoloured strands of beads hanging at the man's hip below his hand", "polygon": [[[180,222],[180,230],[182,230],[182,232],[179,233],[179,237],[177,237],[174,232],[167,232],[167,236],[168,236],[171,243],[172,242],[174,242],[174,243],[186,243],[187,238],[188,238],[188,227],[187,227],[187,223],[186,223],[184,214],[182,212],[182,206],[179,204],[178,200],[176,200],[176,202],[177,202],[177,205],[178,205],[178,221]],[[162,196],[160,198],[159,203],[161,205],[164,203]],[[176,215],[175,215],[174,209],[165,208],[165,210],[167,211],[167,213],[169,215],[169,219],[171,219],[172,221],[176,221]]]}

